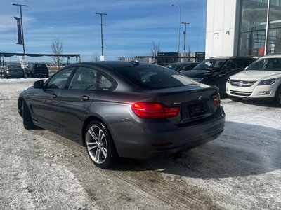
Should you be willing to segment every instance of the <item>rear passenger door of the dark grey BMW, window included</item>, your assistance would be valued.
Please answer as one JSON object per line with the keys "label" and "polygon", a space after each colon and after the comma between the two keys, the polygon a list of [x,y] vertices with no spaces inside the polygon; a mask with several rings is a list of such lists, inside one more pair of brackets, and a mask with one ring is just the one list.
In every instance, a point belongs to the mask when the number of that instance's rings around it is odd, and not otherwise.
{"label": "rear passenger door of the dark grey BMW, window included", "polygon": [[60,90],[56,111],[58,129],[74,136],[79,135],[79,128],[86,110],[93,103],[96,94],[97,71],[80,66],[74,74],[68,89]]}

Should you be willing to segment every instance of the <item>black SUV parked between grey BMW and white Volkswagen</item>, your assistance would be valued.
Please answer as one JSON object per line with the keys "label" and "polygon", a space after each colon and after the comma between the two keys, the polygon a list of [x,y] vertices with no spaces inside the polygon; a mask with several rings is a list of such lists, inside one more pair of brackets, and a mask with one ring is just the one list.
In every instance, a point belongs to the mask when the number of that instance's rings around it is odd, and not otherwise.
{"label": "black SUV parked between grey BMW and white Volkswagen", "polygon": [[219,92],[226,93],[226,81],[229,76],[243,71],[256,59],[254,57],[211,57],[183,74],[207,85],[216,85]]}

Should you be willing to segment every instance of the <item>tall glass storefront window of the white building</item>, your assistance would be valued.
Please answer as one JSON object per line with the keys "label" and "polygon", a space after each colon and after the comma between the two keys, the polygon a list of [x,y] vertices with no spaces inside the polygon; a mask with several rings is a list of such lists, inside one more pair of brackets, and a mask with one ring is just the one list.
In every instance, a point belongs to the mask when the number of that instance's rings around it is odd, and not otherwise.
{"label": "tall glass storefront window of the white building", "polygon": [[[268,0],[242,0],[238,55],[261,57],[265,52]],[[281,52],[281,0],[270,1],[267,54]]]}

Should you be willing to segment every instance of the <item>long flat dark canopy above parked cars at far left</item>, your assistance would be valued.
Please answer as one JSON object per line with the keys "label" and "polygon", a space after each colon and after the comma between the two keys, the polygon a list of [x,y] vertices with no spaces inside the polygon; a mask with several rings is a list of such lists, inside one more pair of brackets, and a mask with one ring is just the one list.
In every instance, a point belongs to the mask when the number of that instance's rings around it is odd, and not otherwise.
{"label": "long flat dark canopy above parked cars at far left", "polygon": [[70,57],[76,57],[81,62],[80,54],[35,54],[35,53],[13,53],[13,52],[0,52],[0,74],[4,71],[4,57],[13,56],[29,56],[29,57],[67,57],[67,64],[69,63]]}

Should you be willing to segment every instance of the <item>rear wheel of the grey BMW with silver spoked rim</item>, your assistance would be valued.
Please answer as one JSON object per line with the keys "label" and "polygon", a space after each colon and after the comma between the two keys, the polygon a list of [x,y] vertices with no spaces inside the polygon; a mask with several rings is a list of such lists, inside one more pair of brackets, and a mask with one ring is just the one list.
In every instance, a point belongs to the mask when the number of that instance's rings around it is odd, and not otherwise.
{"label": "rear wheel of the grey BMW with silver spoked rim", "polygon": [[87,153],[94,165],[106,169],[115,164],[118,158],[115,144],[103,123],[91,121],[84,137]]}

